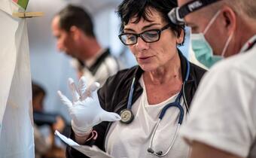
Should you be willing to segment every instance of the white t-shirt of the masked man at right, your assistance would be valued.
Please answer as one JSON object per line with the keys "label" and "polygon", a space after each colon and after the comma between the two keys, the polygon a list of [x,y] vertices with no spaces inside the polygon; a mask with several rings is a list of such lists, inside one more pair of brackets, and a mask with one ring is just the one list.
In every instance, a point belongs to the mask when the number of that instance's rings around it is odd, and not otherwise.
{"label": "white t-shirt of the masked man at right", "polygon": [[256,157],[256,45],[203,77],[181,135],[242,157]]}

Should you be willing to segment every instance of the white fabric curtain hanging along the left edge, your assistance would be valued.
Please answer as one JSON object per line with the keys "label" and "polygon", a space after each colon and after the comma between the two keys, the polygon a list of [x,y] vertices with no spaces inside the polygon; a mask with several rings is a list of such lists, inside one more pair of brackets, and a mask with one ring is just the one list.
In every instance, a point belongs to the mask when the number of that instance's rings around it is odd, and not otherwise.
{"label": "white fabric curtain hanging along the left edge", "polygon": [[26,19],[20,8],[0,0],[0,157],[34,157],[32,90]]}

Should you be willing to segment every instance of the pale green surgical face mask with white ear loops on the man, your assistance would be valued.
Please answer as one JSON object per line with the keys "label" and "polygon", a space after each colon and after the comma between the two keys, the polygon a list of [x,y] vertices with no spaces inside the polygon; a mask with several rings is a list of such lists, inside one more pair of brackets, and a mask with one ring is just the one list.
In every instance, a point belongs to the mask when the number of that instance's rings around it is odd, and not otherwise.
{"label": "pale green surgical face mask with white ear loops on the man", "polygon": [[192,49],[194,50],[195,56],[197,60],[205,65],[207,68],[210,68],[212,65],[215,64],[215,62],[218,62],[219,60],[224,58],[224,54],[226,53],[227,47],[233,37],[232,33],[230,37],[227,38],[227,42],[224,45],[224,49],[222,50],[221,55],[213,54],[212,47],[210,46],[208,41],[206,41],[205,35],[220,13],[221,11],[218,11],[215,16],[212,17],[212,20],[210,20],[203,33],[191,34]]}

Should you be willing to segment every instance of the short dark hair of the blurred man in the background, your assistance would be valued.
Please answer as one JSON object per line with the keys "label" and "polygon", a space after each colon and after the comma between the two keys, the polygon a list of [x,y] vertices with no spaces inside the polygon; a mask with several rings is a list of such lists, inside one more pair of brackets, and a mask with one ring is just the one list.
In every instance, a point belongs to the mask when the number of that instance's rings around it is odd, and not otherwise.
{"label": "short dark hair of the blurred man in the background", "polygon": [[66,32],[69,32],[72,26],[76,26],[83,30],[85,35],[95,37],[93,21],[90,14],[84,8],[67,5],[66,8],[63,8],[56,15],[59,16],[59,28],[64,29]]}

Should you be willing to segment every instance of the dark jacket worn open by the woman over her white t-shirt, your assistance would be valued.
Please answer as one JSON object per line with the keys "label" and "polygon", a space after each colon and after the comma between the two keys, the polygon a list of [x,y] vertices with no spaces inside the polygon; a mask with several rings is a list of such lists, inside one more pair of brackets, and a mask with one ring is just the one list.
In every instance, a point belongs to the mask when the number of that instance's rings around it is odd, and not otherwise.
{"label": "dark jacket worn open by the woman over her white t-shirt", "polygon": [[[187,60],[181,53],[179,53],[179,56],[181,59],[182,79],[184,81],[187,70]],[[190,74],[187,82],[184,83],[184,96],[186,97],[188,106],[190,106],[194,93],[197,90],[197,86],[205,72],[205,69],[190,63]],[[136,99],[141,96],[143,91],[139,84],[139,78],[142,76],[142,73],[142,68],[136,65],[133,68],[119,71],[114,76],[109,77],[104,86],[98,91],[99,102],[102,108],[105,109],[105,111],[111,111],[120,114],[120,111],[127,107],[130,87],[134,76],[136,77],[136,81],[133,92],[133,103],[136,102]],[[102,150],[105,150],[105,136],[107,135],[110,126],[110,122],[102,122],[99,123],[99,125],[93,127],[93,129],[98,132],[98,138],[94,144]],[[73,132],[71,138],[74,138]],[[90,142],[87,144],[90,144]],[[72,147],[67,147],[66,153],[67,157],[70,158],[87,157],[83,153],[72,149]]]}

